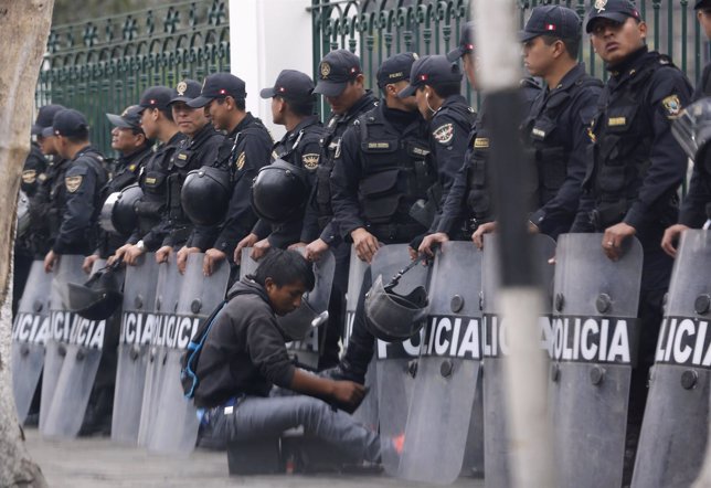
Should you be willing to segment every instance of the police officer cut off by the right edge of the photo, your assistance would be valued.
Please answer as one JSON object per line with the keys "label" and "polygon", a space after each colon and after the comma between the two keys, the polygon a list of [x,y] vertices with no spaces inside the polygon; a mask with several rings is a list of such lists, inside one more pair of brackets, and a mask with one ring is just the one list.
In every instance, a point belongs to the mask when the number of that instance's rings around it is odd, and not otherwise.
{"label": "police officer cut off by the right edge of the photo", "polygon": [[[699,0],[693,7],[697,10],[697,18],[707,38],[711,40],[711,0]],[[701,79],[693,93],[693,100],[711,96],[711,63],[707,64],[701,74]],[[681,233],[688,229],[699,229],[711,219],[711,172],[709,165],[711,153],[704,152],[703,159],[696,161],[687,192],[679,212],[679,223],[671,225],[665,231],[661,238],[661,247],[675,257],[677,255],[677,243]]]}

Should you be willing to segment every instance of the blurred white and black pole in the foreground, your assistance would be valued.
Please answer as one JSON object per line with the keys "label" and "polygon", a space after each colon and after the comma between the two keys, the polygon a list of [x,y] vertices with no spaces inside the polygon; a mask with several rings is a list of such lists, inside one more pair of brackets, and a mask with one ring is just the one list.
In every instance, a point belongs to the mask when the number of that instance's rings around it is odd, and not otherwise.
{"label": "blurred white and black pole in the foreground", "polygon": [[509,466],[514,487],[555,487],[553,442],[546,410],[546,360],[538,340],[543,294],[527,229],[519,138],[521,46],[512,0],[471,0],[476,22],[477,79],[487,98],[489,167],[494,169],[501,288],[499,308],[509,323],[506,404]]}

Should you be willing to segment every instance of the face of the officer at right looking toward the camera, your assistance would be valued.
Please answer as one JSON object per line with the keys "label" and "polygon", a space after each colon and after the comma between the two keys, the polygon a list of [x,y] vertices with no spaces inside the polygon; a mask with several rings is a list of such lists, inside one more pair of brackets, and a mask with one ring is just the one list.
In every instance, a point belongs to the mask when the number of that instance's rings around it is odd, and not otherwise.
{"label": "face of the officer at right looking toward the camera", "polygon": [[597,55],[611,66],[619,64],[645,44],[647,24],[632,17],[624,23],[598,19],[593,24],[591,42]]}

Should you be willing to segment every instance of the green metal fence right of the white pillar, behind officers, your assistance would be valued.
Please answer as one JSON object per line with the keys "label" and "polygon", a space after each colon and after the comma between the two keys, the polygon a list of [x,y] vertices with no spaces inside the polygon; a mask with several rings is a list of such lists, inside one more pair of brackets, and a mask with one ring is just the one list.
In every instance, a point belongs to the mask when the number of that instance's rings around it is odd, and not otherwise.
{"label": "green metal fence right of the white pillar, behind officers", "polygon": [[[349,49],[361,56],[369,87],[380,63],[400,51],[420,54],[444,54],[459,38],[468,17],[469,0],[311,0],[314,21],[314,73],[319,60],[335,49]],[[494,0],[476,0],[494,1]],[[584,18],[594,0],[521,0],[520,23],[530,10],[541,4],[563,4]],[[692,81],[701,74],[707,42],[701,41],[699,25],[690,0],[637,0],[646,19],[651,49],[671,55]],[[606,77],[602,62],[592,46],[585,44],[581,60],[588,71]],[[592,62],[591,62],[592,61]],[[469,91],[470,102],[473,93]],[[321,107],[325,109],[326,107]]]}

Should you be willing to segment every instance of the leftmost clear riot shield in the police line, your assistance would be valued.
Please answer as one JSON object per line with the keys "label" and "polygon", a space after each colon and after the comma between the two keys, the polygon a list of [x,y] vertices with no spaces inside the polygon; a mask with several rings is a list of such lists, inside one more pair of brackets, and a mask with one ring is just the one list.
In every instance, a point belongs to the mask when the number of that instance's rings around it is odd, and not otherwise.
{"label": "leftmost clear riot shield in the police line", "polygon": [[30,412],[44,365],[51,290],[52,275],[44,273],[42,261],[35,261],[12,325],[12,393],[20,422],[24,422]]}

